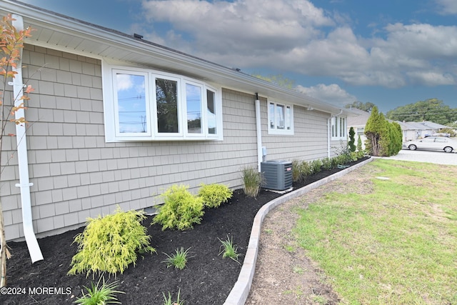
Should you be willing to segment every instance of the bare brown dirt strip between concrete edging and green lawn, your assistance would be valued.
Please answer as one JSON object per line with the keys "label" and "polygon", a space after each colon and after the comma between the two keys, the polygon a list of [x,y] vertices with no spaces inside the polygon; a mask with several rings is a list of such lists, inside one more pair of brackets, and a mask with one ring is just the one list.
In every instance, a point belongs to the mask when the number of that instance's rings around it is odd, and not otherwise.
{"label": "bare brown dirt strip between concrete edging and green lawn", "polygon": [[371,176],[376,176],[373,169],[363,166],[268,213],[263,221],[256,273],[246,305],[340,303],[323,272],[296,244],[292,232],[298,219],[296,209],[306,209],[328,192],[367,194],[373,190]]}

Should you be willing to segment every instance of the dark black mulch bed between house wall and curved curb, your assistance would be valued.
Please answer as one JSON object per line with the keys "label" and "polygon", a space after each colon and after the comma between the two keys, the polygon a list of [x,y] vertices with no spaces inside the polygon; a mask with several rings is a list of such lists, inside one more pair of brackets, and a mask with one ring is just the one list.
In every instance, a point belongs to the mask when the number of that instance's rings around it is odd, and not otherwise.
{"label": "dark black mulch bed between house wall and curved curb", "polygon": [[[341,169],[321,171],[301,184],[294,184],[293,189],[337,171]],[[262,190],[253,199],[238,189],[228,203],[217,209],[206,209],[201,224],[187,231],[161,231],[161,226],[157,224],[150,226],[153,216],[148,216],[143,224],[148,228],[151,246],[157,253],[140,257],[136,266],[129,266],[116,279],[114,276],[110,279],[105,276],[105,279],[108,282],[118,281],[118,290],[125,293],[117,294],[118,301],[124,305],[164,304],[163,294],[168,296],[170,293],[176,299],[178,291],[186,305],[224,304],[238,279],[243,255],[238,259],[239,263],[222,259],[219,239],[233,238],[238,253],[245,254],[254,216],[261,206],[278,196],[281,195]],[[86,274],[68,276],[66,273],[70,269],[71,258],[76,254],[76,244],[72,244],[74,236],[83,229],[39,239],[44,261],[35,264],[31,264],[25,241],[10,242],[12,257],[7,262],[8,290],[0,291],[0,304],[72,304],[76,297],[82,296],[83,286],[90,287],[91,282],[98,281],[98,276],[92,279],[92,276],[86,278]],[[181,247],[190,248],[191,258],[186,268],[167,268],[162,262],[166,259],[164,253],[174,254]],[[6,295],[6,292],[9,294]]]}

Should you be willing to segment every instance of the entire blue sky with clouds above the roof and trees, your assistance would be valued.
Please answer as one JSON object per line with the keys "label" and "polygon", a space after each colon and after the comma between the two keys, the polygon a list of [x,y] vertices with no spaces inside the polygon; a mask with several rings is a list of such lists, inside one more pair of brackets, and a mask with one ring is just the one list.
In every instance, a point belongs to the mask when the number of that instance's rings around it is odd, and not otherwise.
{"label": "entire blue sky with clouds above the roof and trees", "polygon": [[296,89],[383,112],[457,108],[456,0],[22,0]]}

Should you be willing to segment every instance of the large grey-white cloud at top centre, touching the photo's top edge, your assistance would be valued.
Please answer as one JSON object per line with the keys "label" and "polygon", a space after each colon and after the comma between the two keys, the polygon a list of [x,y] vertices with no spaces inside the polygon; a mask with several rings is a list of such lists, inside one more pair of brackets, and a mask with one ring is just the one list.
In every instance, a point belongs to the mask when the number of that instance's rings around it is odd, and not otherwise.
{"label": "large grey-white cloud at top centre, touching the photo's top edge", "polygon": [[303,0],[143,1],[154,22],[171,22],[191,35],[197,50],[220,55],[287,51],[297,41],[318,34],[314,26],[331,26],[321,9]]}

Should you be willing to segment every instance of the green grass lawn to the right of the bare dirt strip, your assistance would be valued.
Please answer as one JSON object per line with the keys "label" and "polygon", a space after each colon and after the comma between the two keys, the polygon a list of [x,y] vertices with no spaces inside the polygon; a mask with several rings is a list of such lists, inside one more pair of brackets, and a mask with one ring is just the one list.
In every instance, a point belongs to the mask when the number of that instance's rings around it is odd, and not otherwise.
{"label": "green grass lawn to the right of the bare dirt strip", "polygon": [[343,304],[457,304],[457,166],[378,159],[369,191],[299,209],[298,244]]}

